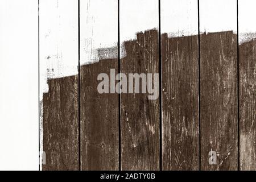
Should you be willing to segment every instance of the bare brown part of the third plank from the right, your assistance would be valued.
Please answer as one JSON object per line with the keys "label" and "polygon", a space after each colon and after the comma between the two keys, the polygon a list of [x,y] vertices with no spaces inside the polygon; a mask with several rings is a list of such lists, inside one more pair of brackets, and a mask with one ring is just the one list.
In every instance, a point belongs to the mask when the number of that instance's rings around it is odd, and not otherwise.
{"label": "bare brown part of the third plank from the right", "polygon": [[161,47],[163,170],[198,170],[198,36],[163,34]]}

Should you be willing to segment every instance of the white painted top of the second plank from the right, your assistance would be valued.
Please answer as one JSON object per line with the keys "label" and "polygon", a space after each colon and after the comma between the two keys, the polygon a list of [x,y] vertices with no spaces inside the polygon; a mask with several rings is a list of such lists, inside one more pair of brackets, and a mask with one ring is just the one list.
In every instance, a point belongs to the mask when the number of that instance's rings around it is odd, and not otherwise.
{"label": "white painted top of the second plank from the right", "polygon": [[237,32],[237,0],[200,0],[200,32]]}

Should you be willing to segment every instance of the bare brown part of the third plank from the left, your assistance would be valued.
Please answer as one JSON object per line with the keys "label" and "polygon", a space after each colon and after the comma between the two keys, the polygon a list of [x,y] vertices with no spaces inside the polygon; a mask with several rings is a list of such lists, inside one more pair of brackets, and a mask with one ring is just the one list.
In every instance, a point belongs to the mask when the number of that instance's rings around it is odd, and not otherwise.
{"label": "bare brown part of the third plank from the left", "polygon": [[81,170],[118,170],[118,94],[98,93],[100,73],[118,73],[118,60],[83,65],[80,75]]}

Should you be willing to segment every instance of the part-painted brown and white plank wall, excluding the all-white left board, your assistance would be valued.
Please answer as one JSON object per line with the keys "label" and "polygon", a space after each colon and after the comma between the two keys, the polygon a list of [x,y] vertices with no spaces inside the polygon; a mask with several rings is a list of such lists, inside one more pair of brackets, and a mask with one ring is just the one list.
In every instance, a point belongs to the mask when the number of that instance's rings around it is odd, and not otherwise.
{"label": "part-painted brown and white plank wall, excluding the all-white left board", "polygon": [[[254,2],[241,1],[239,46],[236,0],[40,1],[42,169],[256,169]],[[151,73],[156,98],[126,93],[129,73]]]}

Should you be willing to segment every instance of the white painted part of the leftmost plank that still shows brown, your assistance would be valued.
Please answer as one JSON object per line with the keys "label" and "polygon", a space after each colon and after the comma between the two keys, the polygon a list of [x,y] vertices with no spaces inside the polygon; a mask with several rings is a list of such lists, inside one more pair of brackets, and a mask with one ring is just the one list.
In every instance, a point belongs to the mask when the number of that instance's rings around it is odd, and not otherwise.
{"label": "white painted part of the leftmost plank that still shows brown", "polygon": [[[47,78],[78,74],[78,5],[77,0],[40,1],[40,101],[43,93],[48,92]],[[41,156],[43,152],[42,115],[43,113],[40,115]]]}

